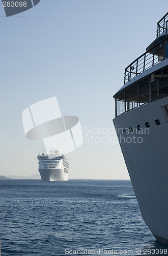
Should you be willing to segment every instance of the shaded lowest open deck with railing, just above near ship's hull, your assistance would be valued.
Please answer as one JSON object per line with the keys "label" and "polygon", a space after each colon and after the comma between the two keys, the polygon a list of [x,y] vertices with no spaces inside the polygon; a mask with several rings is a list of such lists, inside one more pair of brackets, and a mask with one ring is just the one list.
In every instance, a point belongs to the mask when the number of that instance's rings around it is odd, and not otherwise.
{"label": "shaded lowest open deck with railing, just above near ship's hull", "polygon": [[115,97],[115,116],[138,108],[159,98],[168,96],[168,68],[153,74],[151,79],[144,78],[126,87]]}

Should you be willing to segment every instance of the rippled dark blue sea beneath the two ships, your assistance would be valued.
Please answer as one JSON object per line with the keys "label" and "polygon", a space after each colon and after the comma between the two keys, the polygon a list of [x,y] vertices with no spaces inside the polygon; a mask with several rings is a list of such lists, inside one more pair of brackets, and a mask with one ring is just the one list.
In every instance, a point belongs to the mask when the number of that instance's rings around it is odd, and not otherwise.
{"label": "rippled dark blue sea beneath the two ships", "polygon": [[1,255],[167,255],[130,180],[0,180]]}

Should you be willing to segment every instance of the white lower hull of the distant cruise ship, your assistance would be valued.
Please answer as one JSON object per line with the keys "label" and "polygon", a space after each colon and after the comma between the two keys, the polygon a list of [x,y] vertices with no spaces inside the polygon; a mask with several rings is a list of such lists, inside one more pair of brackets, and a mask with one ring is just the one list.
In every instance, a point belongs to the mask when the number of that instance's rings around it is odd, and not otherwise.
{"label": "white lower hull of the distant cruise ship", "polygon": [[68,180],[68,173],[64,172],[63,168],[43,168],[39,169],[42,181],[66,181]]}

